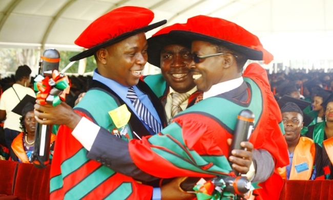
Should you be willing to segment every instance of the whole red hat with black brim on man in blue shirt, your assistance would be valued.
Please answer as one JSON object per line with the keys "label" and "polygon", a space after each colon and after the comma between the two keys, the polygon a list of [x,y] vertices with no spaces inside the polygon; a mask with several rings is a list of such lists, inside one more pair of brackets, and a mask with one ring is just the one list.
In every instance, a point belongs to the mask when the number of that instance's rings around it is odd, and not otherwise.
{"label": "whole red hat with black brim on man in blue shirt", "polygon": [[93,21],[75,40],[75,44],[88,48],[70,61],[94,55],[103,47],[110,46],[138,33],[147,32],[166,23],[166,20],[148,25],[154,13],[147,8],[125,6],[114,9]]}

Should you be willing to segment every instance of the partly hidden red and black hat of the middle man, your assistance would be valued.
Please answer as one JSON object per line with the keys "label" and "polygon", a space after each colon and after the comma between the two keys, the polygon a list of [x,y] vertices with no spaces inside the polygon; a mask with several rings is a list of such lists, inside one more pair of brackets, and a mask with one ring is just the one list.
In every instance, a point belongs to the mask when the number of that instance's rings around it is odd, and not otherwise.
{"label": "partly hidden red and black hat of the middle man", "polygon": [[147,40],[148,62],[150,64],[160,67],[160,54],[164,46],[171,44],[180,44],[191,48],[190,40],[183,40],[177,36],[169,34],[170,31],[174,30],[189,31],[189,29],[186,28],[185,23],[175,23],[169,27],[164,27],[163,29],[159,30]]}

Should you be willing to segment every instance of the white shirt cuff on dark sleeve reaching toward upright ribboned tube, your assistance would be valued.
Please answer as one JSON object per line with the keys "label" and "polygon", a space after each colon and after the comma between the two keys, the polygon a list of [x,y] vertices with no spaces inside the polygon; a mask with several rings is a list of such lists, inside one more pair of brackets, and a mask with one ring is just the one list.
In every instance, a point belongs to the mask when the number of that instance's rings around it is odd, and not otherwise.
{"label": "white shirt cuff on dark sleeve reaching toward upright ribboned tube", "polygon": [[100,127],[94,122],[90,121],[86,117],[82,117],[75,129],[72,131],[72,135],[82,144],[82,146],[90,151],[99,129]]}

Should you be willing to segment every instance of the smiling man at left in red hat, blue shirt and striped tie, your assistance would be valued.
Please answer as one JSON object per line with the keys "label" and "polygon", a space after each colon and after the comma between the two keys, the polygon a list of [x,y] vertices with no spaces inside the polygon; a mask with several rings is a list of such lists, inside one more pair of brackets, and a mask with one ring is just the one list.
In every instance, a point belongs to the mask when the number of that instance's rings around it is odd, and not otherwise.
{"label": "smiling man at left in red hat, blue shirt and striped tie", "polygon": [[[114,137],[113,134],[122,142],[158,133],[166,121],[163,108],[147,84],[139,80],[148,59],[144,32],[166,22],[149,25],[153,18],[154,13],[149,9],[128,6],[93,21],[75,41],[88,49],[70,59],[95,56],[97,69],[91,88],[75,107],[75,112],[63,110],[53,117],[68,115],[70,120],[61,124],[77,124],[83,116],[85,121],[80,123],[93,121],[108,131],[108,137]],[[68,109],[66,104],[61,105]],[[43,111],[43,108],[48,106],[38,109]],[[96,130],[98,126],[94,123],[90,128]],[[101,158],[100,163],[87,158],[86,148],[75,137],[83,135],[94,140],[94,136],[82,130],[77,130],[78,135],[73,136],[73,129],[69,127],[60,126],[57,133],[51,167],[51,199],[155,199],[153,187],[138,183],[142,177],[134,180],[111,170],[109,160]],[[157,179],[144,175],[144,180]],[[168,186],[165,188],[168,191]],[[157,197],[160,198],[160,194]]]}

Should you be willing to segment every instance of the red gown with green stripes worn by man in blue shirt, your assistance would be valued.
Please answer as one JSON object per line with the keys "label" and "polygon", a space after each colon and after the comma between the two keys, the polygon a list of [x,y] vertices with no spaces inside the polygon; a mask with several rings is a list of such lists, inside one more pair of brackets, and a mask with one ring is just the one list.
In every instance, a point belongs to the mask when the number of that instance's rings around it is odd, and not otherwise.
{"label": "red gown with green stripes worn by man in blue shirt", "polygon": [[[80,105],[80,110],[75,112],[81,116],[110,132],[115,128],[108,111],[119,105],[107,92],[89,90]],[[130,127],[128,129],[132,139]],[[72,136],[71,130],[60,126],[50,172],[50,199],[151,199],[151,186],[90,160],[86,154],[87,150]]]}

